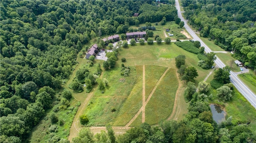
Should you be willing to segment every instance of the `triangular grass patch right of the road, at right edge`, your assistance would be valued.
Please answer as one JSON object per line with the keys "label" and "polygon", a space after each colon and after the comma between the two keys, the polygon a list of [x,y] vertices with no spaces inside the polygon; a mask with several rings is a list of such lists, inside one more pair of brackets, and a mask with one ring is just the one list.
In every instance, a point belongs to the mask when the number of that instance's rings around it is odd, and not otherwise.
{"label": "triangular grass patch right of the road, at right edge", "polygon": [[251,73],[238,74],[238,77],[256,94],[256,75]]}

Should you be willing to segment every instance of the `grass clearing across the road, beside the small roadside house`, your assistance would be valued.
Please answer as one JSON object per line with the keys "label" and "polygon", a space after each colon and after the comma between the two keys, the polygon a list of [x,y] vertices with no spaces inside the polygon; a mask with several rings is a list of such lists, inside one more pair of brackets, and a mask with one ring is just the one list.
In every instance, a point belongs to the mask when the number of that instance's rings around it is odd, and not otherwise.
{"label": "grass clearing across the road, beside the small roadside house", "polygon": [[[216,53],[216,56],[227,66],[231,65],[232,60],[236,60],[230,55],[230,53]],[[232,62],[231,71],[239,72],[241,70],[237,67],[236,63]]]}

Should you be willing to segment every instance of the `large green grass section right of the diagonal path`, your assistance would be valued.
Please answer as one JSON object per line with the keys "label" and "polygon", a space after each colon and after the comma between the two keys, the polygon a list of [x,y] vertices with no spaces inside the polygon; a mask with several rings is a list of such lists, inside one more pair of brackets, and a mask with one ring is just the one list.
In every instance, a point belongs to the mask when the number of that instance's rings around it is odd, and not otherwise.
{"label": "large green grass section right of the diagonal path", "polygon": [[169,69],[146,105],[145,121],[147,123],[154,125],[161,119],[166,119],[170,116],[177,88],[176,71]]}

